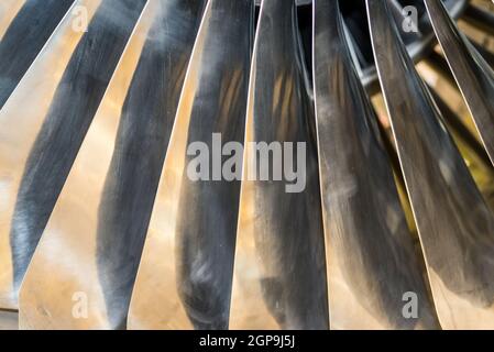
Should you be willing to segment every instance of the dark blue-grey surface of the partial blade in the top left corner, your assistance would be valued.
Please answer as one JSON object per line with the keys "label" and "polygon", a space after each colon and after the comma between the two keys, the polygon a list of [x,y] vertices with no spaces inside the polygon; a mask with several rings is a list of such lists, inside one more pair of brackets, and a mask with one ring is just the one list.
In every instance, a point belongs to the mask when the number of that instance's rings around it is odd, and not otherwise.
{"label": "dark blue-grey surface of the partial blade in the top left corner", "polygon": [[0,109],[74,2],[30,0],[19,10],[4,33],[0,22]]}

